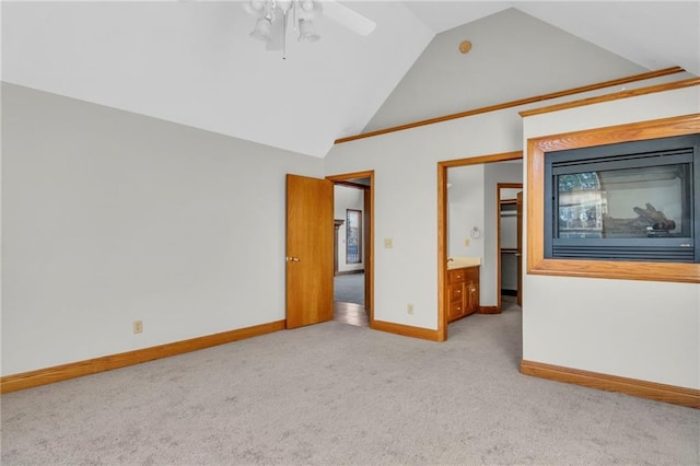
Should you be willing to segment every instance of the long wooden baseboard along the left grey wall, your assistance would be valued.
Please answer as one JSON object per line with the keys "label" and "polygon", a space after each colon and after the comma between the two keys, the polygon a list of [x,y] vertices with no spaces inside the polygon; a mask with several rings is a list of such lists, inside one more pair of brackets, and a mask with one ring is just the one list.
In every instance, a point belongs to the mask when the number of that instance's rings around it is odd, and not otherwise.
{"label": "long wooden baseboard along the left grey wall", "polygon": [[197,337],[189,340],[161,345],[158,347],[143,348],[118,354],[90,359],[86,361],[56,365],[52,368],[39,369],[36,371],[23,372],[20,374],[5,375],[3,377],[0,377],[0,393],[32,388],[39,385],[67,381],[69,378],[95,374],[97,372],[110,371],[113,369],[135,365],[141,362],[153,361],[156,359],[210,348],[218,345],[230,343],[232,341],[243,340],[246,338],[257,337],[260,335],[282,330],[284,329],[284,321],[270,322],[268,324],[240,328],[221,334],[207,335],[205,337]]}

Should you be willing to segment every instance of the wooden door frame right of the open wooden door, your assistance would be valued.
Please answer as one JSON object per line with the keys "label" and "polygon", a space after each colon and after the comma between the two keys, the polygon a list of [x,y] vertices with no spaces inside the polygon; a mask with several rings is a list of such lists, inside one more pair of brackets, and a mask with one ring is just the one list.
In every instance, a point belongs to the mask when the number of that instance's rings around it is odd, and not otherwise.
{"label": "wooden door frame right of the open wooden door", "polygon": [[[353,179],[370,178],[370,185],[353,183]],[[374,328],[374,171],[345,173],[326,176],[334,185],[351,186],[364,190],[364,308],[370,328]]]}

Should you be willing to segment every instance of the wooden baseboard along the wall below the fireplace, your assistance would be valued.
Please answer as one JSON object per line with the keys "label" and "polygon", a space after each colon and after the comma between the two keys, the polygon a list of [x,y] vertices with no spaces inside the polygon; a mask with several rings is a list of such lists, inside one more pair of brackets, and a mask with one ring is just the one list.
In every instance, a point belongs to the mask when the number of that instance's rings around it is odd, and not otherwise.
{"label": "wooden baseboard along the wall below the fireplace", "polygon": [[526,360],[521,361],[521,373],[700,409],[700,389],[639,381],[635,378],[581,371],[579,369],[562,368]]}

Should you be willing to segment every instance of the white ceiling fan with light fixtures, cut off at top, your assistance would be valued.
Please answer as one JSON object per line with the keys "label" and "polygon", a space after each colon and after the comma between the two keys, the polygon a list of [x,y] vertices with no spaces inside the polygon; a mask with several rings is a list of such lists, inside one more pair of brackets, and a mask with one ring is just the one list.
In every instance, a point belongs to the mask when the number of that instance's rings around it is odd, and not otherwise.
{"label": "white ceiling fan with light fixtures, cut off at top", "polygon": [[313,21],[325,14],[359,35],[366,36],[376,23],[335,0],[247,0],[243,9],[257,18],[250,36],[266,43],[267,50],[282,50],[287,59],[287,33],[298,33],[299,42],[320,38]]}

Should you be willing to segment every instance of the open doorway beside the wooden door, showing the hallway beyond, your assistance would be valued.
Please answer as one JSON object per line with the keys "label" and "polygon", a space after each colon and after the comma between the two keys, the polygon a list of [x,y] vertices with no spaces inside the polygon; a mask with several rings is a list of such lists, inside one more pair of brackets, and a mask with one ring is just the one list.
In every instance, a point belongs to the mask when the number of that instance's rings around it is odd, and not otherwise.
{"label": "open doorway beside the wooden door, showing the hallway beyond", "polygon": [[334,183],[334,321],[372,327],[373,172]]}

